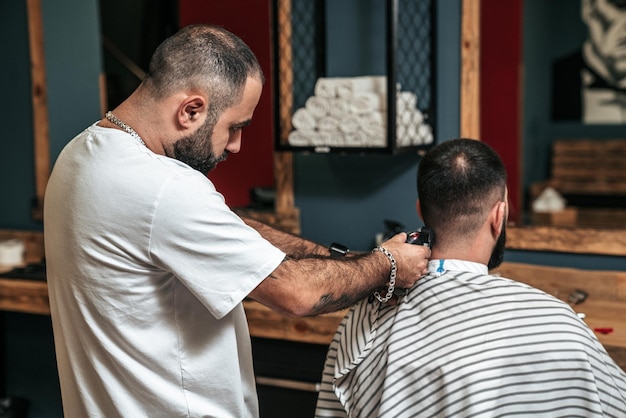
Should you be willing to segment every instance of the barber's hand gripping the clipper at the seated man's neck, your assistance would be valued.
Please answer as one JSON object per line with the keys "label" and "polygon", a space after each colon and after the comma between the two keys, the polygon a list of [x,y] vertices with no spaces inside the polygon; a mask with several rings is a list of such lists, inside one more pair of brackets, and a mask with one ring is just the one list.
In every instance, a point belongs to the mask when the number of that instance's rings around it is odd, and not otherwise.
{"label": "barber's hand gripping the clipper at the seated man's neck", "polygon": [[381,246],[385,247],[396,259],[396,288],[409,289],[417,280],[428,273],[430,248],[424,245],[406,243],[407,235],[401,232]]}

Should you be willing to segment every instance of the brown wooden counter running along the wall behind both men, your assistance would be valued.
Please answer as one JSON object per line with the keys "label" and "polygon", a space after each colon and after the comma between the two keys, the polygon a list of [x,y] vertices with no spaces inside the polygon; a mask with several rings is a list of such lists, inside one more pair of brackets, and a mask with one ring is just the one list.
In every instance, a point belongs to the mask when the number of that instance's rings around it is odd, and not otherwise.
{"label": "brown wooden counter running along the wall behind both men", "polygon": [[[38,233],[0,231],[0,239],[18,237],[26,243],[26,261],[38,262],[43,254],[43,237]],[[496,269],[505,277],[540,288],[560,299],[574,289],[589,293],[576,312],[596,331],[600,342],[616,361],[626,368],[626,272],[590,271],[560,267],[503,263]],[[296,342],[329,344],[345,311],[316,317],[293,318],[278,314],[264,305],[244,301],[250,335]],[[50,314],[48,289],[44,281],[0,278],[0,310]],[[604,332],[602,332],[603,330]]]}

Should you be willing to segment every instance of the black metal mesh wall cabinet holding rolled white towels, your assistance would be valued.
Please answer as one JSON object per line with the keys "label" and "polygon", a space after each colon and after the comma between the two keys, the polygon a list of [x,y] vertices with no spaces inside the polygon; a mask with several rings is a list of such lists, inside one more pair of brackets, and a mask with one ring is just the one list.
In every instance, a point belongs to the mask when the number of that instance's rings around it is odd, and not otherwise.
{"label": "black metal mesh wall cabinet holding rolled white towels", "polygon": [[434,0],[270,3],[275,150],[423,154],[436,142]]}

